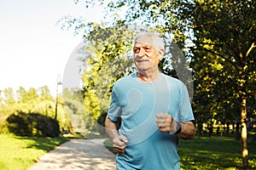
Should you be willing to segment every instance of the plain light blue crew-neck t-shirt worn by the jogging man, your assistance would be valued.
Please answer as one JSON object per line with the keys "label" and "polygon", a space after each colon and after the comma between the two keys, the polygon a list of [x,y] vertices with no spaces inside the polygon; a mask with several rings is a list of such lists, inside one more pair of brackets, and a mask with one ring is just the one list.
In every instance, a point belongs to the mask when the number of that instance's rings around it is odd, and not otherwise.
{"label": "plain light blue crew-neck t-shirt worn by the jogging man", "polygon": [[194,120],[183,82],[164,74],[154,82],[142,82],[132,73],[113,84],[108,117],[113,122],[121,117],[119,134],[128,139],[125,154],[116,155],[118,170],[180,169],[178,138],[158,130],[159,113],[170,114],[177,122]]}

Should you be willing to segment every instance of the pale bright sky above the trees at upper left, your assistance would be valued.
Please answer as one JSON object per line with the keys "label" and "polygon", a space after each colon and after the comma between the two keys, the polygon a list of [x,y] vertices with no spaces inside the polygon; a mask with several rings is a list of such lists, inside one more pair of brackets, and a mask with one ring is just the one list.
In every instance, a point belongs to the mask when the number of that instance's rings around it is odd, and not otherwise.
{"label": "pale bright sky above the trees at upper left", "polygon": [[56,22],[66,15],[99,21],[101,12],[85,10],[83,1],[0,0],[0,91],[48,86],[55,95],[57,79],[83,40]]}

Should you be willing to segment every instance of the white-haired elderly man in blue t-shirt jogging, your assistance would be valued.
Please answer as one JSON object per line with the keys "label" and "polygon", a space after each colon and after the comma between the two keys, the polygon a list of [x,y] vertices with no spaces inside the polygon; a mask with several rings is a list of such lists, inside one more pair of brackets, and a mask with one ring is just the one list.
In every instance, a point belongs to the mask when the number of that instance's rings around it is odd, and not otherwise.
{"label": "white-haired elderly man in blue t-shirt jogging", "polygon": [[137,72],[113,84],[105,125],[118,170],[180,169],[178,138],[195,137],[187,88],[158,69],[164,47],[153,33],[137,35],[133,44]]}

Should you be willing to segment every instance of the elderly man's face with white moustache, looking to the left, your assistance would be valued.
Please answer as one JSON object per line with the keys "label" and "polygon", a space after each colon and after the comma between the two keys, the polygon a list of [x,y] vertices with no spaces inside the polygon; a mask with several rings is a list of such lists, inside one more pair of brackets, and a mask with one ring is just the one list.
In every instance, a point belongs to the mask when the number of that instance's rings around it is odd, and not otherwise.
{"label": "elderly man's face with white moustache, looking to the left", "polygon": [[134,44],[133,54],[139,71],[158,69],[160,53],[153,47],[151,37],[139,37]]}

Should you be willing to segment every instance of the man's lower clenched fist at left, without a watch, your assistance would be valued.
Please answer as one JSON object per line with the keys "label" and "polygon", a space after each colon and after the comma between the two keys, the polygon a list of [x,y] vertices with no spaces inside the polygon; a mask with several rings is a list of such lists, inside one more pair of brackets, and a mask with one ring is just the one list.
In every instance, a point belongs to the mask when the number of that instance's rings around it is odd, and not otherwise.
{"label": "man's lower clenched fist at left, without a watch", "polygon": [[124,154],[128,140],[125,136],[120,135],[113,139],[113,150],[115,153]]}

